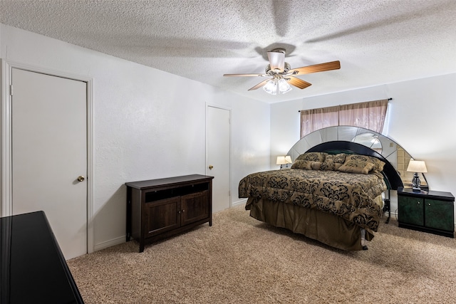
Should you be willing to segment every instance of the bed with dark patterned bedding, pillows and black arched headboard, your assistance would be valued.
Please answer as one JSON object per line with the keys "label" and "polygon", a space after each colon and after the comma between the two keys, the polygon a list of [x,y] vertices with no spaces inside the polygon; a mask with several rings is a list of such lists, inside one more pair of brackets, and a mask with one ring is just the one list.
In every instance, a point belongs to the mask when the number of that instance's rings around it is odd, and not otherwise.
{"label": "bed with dark patterned bedding, pillows and black arched headboard", "polygon": [[[291,169],[247,175],[239,198],[250,216],[346,251],[366,250],[389,203],[402,187],[382,155],[355,142],[324,142]],[[385,197],[388,194],[388,197]]]}

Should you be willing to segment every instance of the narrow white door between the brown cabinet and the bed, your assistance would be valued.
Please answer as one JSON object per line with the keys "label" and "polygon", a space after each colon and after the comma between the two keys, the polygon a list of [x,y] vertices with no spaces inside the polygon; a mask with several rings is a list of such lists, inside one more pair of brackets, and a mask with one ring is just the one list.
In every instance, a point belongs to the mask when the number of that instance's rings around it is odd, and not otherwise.
{"label": "narrow white door between the brown cabinet and the bed", "polygon": [[230,111],[207,107],[207,174],[212,180],[212,212],[228,209],[230,197]]}

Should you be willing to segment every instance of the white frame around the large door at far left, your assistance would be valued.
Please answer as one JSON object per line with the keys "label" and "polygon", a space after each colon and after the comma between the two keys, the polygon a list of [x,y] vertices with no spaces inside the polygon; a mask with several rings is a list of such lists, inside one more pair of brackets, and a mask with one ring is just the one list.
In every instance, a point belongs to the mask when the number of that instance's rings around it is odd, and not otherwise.
{"label": "white frame around the large door at far left", "polygon": [[11,75],[12,69],[28,70],[61,78],[82,81],[87,84],[87,252],[93,245],[93,78],[50,70],[34,65],[1,59],[1,209],[0,216],[11,216],[13,211],[11,170]]}

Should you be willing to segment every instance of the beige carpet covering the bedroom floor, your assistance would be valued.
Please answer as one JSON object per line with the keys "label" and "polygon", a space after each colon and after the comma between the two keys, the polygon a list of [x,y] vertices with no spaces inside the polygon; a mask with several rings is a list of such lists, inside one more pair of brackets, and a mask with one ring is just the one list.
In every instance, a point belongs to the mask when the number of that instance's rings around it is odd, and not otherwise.
{"label": "beige carpet covering the bedroom floor", "polygon": [[456,303],[456,240],[381,224],[368,251],[341,251],[252,219],[118,246],[68,266],[86,303]]}

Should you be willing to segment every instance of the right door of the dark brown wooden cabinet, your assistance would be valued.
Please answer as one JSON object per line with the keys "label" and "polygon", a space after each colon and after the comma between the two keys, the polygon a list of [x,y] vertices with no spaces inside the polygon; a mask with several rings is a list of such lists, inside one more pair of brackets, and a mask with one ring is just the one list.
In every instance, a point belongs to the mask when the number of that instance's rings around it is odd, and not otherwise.
{"label": "right door of the dark brown wooden cabinet", "polygon": [[181,196],[182,226],[209,218],[209,190]]}

